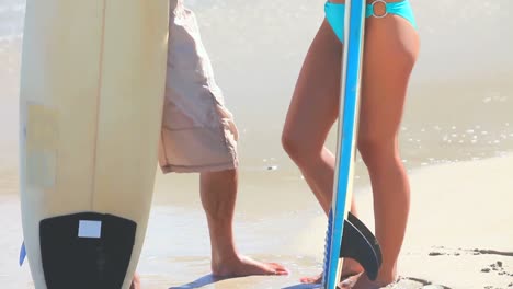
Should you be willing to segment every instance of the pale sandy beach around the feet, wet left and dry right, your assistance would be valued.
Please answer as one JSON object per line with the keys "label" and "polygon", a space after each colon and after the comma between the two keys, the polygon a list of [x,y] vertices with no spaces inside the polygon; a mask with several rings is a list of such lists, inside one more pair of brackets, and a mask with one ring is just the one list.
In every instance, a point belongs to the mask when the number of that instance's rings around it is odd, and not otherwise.
{"label": "pale sandy beach around the feet, wet left and dry right", "polygon": [[[512,170],[513,155],[414,170],[411,218],[400,256],[402,279],[394,288],[511,287]],[[326,218],[317,204],[308,205],[314,199],[307,189],[294,184],[303,181],[286,184],[282,178],[262,185],[253,174],[242,174],[236,240],[242,253],[283,263],[290,276],[212,278],[206,221],[196,190],[175,188],[159,175],[139,263],[145,288],[312,288],[299,286],[298,278],[321,269]],[[281,178],[280,173],[271,172],[267,178]],[[2,187],[16,190],[15,175],[2,180]],[[276,183],[282,183],[280,189]],[[267,197],[255,194],[253,186],[275,189],[275,197],[271,199],[269,192]],[[369,188],[361,187],[356,195],[361,218],[372,228]],[[26,264],[16,267],[22,240],[18,197],[2,194],[0,200],[0,227],[5,232],[0,241],[0,281],[5,288],[31,288]]]}

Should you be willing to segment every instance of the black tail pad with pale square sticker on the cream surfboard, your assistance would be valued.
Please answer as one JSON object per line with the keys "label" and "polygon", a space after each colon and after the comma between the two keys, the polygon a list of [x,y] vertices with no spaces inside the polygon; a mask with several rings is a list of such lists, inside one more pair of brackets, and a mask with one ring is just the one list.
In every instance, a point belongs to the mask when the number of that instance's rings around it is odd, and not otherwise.
{"label": "black tail pad with pale square sticker on the cream surfboard", "polygon": [[122,288],[136,228],[130,220],[96,212],[42,220],[41,254],[47,288]]}

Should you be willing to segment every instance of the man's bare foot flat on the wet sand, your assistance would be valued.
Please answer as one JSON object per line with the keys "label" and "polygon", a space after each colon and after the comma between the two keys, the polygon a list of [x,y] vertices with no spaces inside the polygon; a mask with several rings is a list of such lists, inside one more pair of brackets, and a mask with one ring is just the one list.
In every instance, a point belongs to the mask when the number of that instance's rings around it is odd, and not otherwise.
{"label": "man's bare foot flat on the wet sand", "polygon": [[263,263],[246,256],[238,256],[229,262],[213,263],[212,273],[220,278],[250,275],[288,275],[288,270],[277,263]]}

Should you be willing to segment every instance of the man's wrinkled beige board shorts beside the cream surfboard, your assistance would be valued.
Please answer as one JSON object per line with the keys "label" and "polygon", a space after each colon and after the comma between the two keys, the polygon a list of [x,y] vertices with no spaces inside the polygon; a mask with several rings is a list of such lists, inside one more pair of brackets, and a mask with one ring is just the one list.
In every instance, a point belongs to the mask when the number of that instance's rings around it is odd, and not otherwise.
{"label": "man's wrinkled beige board shorts beside the cream surfboard", "polygon": [[159,165],[163,173],[235,169],[237,140],[196,19],[183,0],[171,0]]}

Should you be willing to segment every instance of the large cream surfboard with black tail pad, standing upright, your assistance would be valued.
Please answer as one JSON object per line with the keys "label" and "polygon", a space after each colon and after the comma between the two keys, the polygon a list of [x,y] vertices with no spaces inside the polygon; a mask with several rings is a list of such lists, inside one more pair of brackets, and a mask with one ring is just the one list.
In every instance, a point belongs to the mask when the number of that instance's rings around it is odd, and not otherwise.
{"label": "large cream surfboard with black tail pad, standing upright", "polygon": [[168,0],[27,0],[23,234],[36,289],[128,288],[150,210]]}

